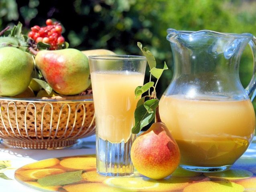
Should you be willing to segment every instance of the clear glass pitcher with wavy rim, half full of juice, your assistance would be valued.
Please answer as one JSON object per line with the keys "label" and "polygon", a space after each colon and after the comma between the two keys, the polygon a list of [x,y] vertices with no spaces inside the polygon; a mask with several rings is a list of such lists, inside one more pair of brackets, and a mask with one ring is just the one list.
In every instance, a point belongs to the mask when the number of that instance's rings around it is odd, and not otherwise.
{"label": "clear glass pitcher with wavy rim, half full of juice", "polygon": [[[254,136],[256,38],[209,30],[167,32],[175,71],[159,110],[179,145],[180,166],[199,172],[228,170]],[[247,44],[254,75],[244,89],[239,63]]]}

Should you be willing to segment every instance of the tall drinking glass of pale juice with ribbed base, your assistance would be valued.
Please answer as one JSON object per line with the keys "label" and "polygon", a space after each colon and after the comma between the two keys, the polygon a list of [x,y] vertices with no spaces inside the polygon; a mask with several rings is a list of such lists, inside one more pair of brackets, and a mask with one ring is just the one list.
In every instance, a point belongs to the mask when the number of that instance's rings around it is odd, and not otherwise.
{"label": "tall drinking glass of pale juice with ribbed base", "polygon": [[130,148],[136,135],[134,91],[142,86],[146,70],[143,56],[89,56],[96,120],[97,172],[105,176],[133,173]]}

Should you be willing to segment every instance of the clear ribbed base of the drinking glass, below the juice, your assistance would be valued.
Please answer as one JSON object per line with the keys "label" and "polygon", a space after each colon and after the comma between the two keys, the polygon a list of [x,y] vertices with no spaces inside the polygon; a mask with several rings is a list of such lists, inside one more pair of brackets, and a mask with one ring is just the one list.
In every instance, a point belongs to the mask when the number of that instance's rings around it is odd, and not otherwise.
{"label": "clear ribbed base of the drinking glass, below the juice", "polygon": [[96,136],[97,172],[104,176],[128,176],[134,167],[130,149],[136,138],[132,134],[127,142],[111,143]]}

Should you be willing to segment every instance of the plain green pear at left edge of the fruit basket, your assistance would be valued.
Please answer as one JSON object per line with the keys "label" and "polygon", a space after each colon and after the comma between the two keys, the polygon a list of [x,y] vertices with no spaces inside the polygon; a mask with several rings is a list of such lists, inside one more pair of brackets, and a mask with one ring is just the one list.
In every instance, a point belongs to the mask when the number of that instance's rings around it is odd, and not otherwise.
{"label": "plain green pear at left edge of the fruit basket", "polygon": [[15,96],[28,88],[34,68],[33,58],[14,47],[0,48],[0,95]]}

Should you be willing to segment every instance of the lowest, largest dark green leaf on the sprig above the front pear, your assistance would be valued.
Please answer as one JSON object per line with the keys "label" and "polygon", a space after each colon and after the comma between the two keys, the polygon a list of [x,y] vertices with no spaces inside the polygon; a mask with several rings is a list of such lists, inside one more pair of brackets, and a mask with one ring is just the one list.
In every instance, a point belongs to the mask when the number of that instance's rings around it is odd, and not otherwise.
{"label": "lowest, largest dark green leaf on the sprig above the front pear", "polygon": [[144,126],[147,126],[154,119],[155,114],[156,110],[148,113],[144,105],[138,106],[134,112],[135,125],[132,128],[132,133],[138,134]]}

